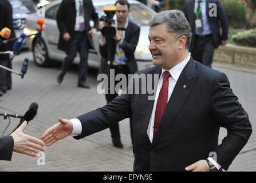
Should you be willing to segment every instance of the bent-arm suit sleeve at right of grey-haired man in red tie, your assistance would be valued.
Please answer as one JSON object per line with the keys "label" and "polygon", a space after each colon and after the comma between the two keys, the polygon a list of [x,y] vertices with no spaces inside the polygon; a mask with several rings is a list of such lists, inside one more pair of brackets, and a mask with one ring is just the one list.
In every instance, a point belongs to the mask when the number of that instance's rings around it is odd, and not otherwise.
{"label": "bent-arm suit sleeve at right of grey-haired man in red tie", "polygon": [[227,136],[215,149],[217,162],[227,170],[229,165],[249,140],[252,129],[248,114],[238,102],[225,74],[220,73],[212,89],[212,116],[227,129]]}

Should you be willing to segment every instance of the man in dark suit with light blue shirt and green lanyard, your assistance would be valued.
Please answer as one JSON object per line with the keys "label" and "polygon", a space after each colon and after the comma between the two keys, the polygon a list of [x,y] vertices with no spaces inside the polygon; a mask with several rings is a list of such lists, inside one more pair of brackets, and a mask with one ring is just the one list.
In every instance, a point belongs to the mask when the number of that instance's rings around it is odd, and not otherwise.
{"label": "man in dark suit with light blue shirt and green lanyard", "polygon": [[214,49],[227,44],[229,23],[222,6],[218,0],[188,0],[184,14],[193,33],[190,46],[192,57],[203,65],[211,66]]}

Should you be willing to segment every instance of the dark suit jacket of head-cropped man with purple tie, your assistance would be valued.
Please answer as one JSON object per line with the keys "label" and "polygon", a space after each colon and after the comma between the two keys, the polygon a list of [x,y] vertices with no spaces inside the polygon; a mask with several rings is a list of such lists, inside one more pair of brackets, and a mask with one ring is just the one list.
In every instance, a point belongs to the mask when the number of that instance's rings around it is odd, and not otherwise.
{"label": "dark suit jacket of head-cropped man with purple tie", "polygon": [[[84,20],[85,20],[85,32],[89,41],[89,48],[93,48],[92,37],[88,33],[91,29],[89,21],[90,19],[94,22],[94,27],[99,26],[99,17],[96,13],[92,1],[84,0]],[[69,33],[71,37],[74,34],[74,25],[76,24],[76,5],[74,0],[63,0],[61,2],[60,8],[58,9],[56,17],[58,29],[60,30],[60,38],[58,41],[58,49],[63,51],[69,51],[72,43],[72,38],[69,41],[63,39],[64,33]]]}

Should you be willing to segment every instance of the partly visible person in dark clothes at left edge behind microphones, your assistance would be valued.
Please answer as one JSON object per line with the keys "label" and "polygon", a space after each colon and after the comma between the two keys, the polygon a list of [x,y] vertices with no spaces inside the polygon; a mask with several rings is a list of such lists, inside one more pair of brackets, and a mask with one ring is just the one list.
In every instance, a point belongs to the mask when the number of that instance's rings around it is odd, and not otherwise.
{"label": "partly visible person in dark clothes at left edge behind microphones", "polygon": [[[0,0],[0,30],[3,28],[9,28],[11,30],[10,38],[15,38],[15,31],[13,28],[13,9],[9,1]],[[1,40],[1,38],[0,38]],[[14,43],[6,43],[0,46],[0,51],[13,50]],[[0,64],[11,69],[10,57],[8,54],[0,54]],[[0,97],[7,90],[11,89],[11,72],[0,68]]]}

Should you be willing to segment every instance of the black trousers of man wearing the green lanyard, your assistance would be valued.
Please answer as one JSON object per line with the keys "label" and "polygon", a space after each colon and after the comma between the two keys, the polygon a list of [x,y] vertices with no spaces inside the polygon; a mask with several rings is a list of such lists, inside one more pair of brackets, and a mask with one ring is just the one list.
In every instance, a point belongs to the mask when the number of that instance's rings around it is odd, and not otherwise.
{"label": "black trousers of man wearing the green lanyard", "polygon": [[199,35],[196,35],[191,55],[196,61],[211,67],[214,49],[214,39],[211,34],[206,35],[206,37],[199,37]]}

